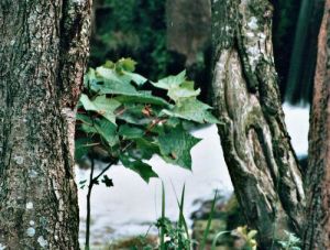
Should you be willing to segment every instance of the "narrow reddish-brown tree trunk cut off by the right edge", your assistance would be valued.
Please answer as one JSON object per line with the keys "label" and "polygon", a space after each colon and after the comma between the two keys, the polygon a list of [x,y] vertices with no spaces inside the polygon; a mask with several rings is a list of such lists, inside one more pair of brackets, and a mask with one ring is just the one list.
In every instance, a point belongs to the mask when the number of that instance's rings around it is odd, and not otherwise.
{"label": "narrow reddish-brown tree trunk cut off by the right edge", "polygon": [[318,41],[307,187],[304,249],[330,249],[330,0],[326,1]]}

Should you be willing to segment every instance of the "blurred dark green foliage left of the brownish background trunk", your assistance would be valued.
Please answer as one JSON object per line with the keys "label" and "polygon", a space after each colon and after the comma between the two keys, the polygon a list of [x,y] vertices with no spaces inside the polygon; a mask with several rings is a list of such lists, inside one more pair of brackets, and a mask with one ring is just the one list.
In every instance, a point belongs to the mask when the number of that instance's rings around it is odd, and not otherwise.
{"label": "blurred dark green foliage left of the brownish background trunk", "polygon": [[91,66],[132,57],[151,79],[183,68],[183,58],[166,50],[164,0],[97,0],[94,9]]}

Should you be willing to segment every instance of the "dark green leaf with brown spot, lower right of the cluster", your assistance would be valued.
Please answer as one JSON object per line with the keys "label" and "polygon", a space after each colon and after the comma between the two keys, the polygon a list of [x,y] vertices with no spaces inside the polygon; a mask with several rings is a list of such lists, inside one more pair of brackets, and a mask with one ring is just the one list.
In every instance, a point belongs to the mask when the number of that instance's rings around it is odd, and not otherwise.
{"label": "dark green leaf with brown spot, lower right of the cluster", "polygon": [[191,170],[190,150],[199,141],[200,139],[177,127],[170,132],[158,137],[161,156],[166,162]]}

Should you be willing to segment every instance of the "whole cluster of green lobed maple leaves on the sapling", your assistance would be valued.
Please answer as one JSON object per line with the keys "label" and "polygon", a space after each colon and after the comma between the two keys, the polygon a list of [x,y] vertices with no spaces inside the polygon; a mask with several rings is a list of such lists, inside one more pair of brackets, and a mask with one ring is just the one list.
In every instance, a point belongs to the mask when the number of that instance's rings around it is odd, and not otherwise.
{"label": "whole cluster of green lobed maple leaves on the sapling", "polygon": [[185,72],[153,83],[134,73],[135,64],[130,58],[107,62],[86,75],[86,91],[78,104],[77,130],[82,137],[76,140],[76,160],[101,148],[111,162],[120,161],[145,182],[157,176],[145,163],[154,154],[190,170],[190,150],[200,139],[189,129],[218,120],[197,99],[200,90]]}

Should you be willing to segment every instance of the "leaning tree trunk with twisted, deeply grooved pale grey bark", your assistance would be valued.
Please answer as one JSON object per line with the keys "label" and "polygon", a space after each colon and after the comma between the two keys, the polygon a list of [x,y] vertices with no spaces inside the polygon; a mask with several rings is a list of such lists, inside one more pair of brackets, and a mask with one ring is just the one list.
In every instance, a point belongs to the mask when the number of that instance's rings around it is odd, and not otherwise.
{"label": "leaning tree trunk with twisted, deeply grooved pale grey bark", "polygon": [[305,193],[284,122],[267,0],[213,0],[213,107],[235,194],[261,249],[300,235]]}

